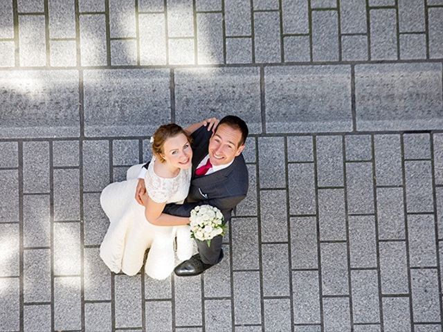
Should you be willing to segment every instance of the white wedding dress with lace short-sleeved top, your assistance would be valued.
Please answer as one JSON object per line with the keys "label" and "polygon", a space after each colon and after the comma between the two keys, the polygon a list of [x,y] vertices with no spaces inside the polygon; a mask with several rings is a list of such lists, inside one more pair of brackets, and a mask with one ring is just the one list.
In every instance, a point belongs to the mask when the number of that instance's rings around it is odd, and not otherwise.
{"label": "white wedding dress with lace short-sleeved top", "polygon": [[[191,169],[181,169],[174,178],[161,178],[154,172],[154,160],[152,157],[145,176],[150,198],[159,203],[183,203],[188,196]],[[100,257],[112,272],[136,275],[150,248],[145,273],[165,279],[174,270],[174,239],[177,237],[177,257],[181,261],[192,256],[194,241],[188,225],[158,226],[146,220],[145,208],[134,198],[141,167],[130,167],[127,181],[111,183],[102,191],[100,204],[110,225],[100,246]]]}

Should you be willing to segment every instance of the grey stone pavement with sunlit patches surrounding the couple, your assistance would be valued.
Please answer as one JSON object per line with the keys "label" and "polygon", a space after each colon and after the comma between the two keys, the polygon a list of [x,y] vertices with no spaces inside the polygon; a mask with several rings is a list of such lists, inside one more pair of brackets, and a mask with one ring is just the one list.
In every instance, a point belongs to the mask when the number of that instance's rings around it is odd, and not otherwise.
{"label": "grey stone pavement with sunlit patches surrounding the couple", "polygon": [[[0,331],[442,331],[442,0],[1,0]],[[114,275],[100,191],[236,114],[198,277]]]}

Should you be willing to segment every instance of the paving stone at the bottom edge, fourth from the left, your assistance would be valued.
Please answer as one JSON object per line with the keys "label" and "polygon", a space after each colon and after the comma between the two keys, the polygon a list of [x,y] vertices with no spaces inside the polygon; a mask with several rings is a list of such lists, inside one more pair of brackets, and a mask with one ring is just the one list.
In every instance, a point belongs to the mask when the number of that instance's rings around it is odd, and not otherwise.
{"label": "paving stone at the bottom edge, fourth from the left", "polygon": [[111,303],[85,303],[84,327],[86,331],[111,331]]}

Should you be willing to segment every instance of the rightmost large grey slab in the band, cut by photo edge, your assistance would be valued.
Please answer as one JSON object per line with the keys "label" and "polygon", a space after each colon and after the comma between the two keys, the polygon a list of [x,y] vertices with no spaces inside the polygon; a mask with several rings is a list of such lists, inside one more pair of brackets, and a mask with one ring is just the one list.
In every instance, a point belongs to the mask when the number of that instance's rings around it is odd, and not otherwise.
{"label": "rightmost large grey slab in the band, cut by photo edge", "polygon": [[358,130],[441,129],[442,64],[355,66]]}

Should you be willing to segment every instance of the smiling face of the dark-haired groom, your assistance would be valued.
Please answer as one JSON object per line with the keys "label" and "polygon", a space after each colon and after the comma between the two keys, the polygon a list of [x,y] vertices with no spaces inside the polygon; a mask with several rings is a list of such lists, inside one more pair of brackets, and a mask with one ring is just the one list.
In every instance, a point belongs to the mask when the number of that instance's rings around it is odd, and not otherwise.
{"label": "smiling face of the dark-haired groom", "polygon": [[244,145],[239,145],[242,132],[228,124],[221,124],[209,140],[209,159],[214,166],[226,165],[242,153]]}

